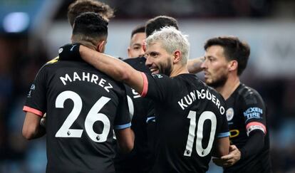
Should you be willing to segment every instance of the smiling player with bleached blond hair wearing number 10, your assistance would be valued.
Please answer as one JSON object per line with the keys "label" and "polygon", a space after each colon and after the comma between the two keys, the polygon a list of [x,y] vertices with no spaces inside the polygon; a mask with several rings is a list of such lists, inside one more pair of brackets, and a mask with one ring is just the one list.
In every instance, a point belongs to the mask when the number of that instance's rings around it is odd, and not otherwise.
{"label": "smiling player with bleached blond hair wearing number 10", "polygon": [[157,142],[151,172],[206,172],[212,154],[220,157],[229,152],[224,100],[188,73],[189,43],[180,31],[165,27],[146,42],[146,64],[153,75],[78,44],[74,51],[63,46],[66,51],[60,56],[77,56],[80,50],[95,68],[154,100]]}

